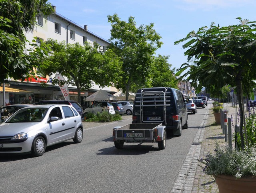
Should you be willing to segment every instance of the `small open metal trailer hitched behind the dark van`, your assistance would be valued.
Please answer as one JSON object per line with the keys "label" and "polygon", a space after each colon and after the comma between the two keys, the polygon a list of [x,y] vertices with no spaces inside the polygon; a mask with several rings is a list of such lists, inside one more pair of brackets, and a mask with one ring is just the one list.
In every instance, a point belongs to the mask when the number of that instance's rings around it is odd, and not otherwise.
{"label": "small open metal trailer hitched behind the dark van", "polygon": [[116,126],[113,129],[115,147],[123,148],[126,143],[158,143],[158,148],[166,147],[166,126],[159,123],[136,123],[125,126]]}

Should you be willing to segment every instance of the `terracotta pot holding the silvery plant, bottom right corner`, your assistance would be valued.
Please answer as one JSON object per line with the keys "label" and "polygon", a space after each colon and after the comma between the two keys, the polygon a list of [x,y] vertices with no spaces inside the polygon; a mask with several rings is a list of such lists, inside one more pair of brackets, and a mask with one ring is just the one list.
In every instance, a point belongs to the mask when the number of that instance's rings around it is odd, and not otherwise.
{"label": "terracotta pot holding the silvery plant, bottom right corner", "polygon": [[255,193],[256,177],[241,177],[232,175],[214,176],[220,193]]}

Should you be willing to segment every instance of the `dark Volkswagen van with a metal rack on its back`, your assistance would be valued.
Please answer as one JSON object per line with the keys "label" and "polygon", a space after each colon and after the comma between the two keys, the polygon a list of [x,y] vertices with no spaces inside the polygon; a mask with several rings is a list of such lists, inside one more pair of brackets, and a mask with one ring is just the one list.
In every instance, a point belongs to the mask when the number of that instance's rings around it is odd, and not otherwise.
{"label": "dark Volkswagen van with a metal rack on its back", "polygon": [[134,99],[132,123],[162,123],[167,133],[181,136],[182,128],[188,128],[182,93],[168,87],[139,89]]}

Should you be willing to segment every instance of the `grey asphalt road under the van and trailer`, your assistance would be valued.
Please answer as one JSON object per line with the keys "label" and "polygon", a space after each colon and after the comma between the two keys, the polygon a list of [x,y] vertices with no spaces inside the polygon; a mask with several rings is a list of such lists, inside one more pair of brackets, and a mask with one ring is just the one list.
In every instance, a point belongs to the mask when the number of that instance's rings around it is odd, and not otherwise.
{"label": "grey asphalt road under the van and trailer", "polygon": [[[46,148],[43,156],[0,154],[0,193],[156,193],[170,192],[207,108],[189,114],[189,128],[157,143],[114,147],[112,128],[132,119],[84,129],[72,140]],[[128,118],[128,119],[127,119]]]}

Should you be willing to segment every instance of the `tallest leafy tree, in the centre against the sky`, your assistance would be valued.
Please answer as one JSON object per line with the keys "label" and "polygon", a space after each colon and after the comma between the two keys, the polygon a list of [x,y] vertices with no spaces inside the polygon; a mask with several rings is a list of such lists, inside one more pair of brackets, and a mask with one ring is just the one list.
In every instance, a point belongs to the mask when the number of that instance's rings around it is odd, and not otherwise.
{"label": "tallest leafy tree, in the centre against the sky", "polygon": [[126,100],[131,87],[151,85],[150,71],[155,51],[161,47],[161,37],[153,29],[154,24],[136,27],[134,17],[128,22],[121,21],[117,14],[108,16],[111,23],[110,48],[121,58],[122,79],[116,88],[126,93]]}

